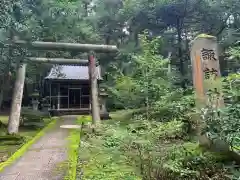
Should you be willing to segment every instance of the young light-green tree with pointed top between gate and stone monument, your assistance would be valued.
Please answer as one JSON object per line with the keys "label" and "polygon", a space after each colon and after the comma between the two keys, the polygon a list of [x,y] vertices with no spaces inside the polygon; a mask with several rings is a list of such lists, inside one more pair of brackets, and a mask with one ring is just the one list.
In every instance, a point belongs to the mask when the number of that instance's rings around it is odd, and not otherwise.
{"label": "young light-green tree with pointed top between gate and stone monument", "polygon": [[111,96],[124,107],[150,106],[170,88],[166,71],[168,60],[157,54],[160,38],[149,40],[145,34],[141,40],[142,53],[131,57],[133,71],[114,75],[115,86],[108,88]]}

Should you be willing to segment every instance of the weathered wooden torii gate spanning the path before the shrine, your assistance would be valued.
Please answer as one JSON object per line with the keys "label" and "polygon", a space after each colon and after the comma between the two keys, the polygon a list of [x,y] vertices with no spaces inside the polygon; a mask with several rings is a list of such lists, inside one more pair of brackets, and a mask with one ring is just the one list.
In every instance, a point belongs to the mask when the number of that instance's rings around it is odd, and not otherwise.
{"label": "weathered wooden torii gate spanning the path before the shrine", "polygon": [[[79,51],[88,52],[88,61],[81,59],[65,59],[65,58],[42,58],[42,57],[24,57],[23,64],[17,66],[17,77],[14,85],[14,93],[12,97],[11,112],[9,116],[8,133],[14,134],[18,132],[19,119],[22,105],[23,88],[26,72],[26,61],[36,63],[51,63],[51,64],[79,64],[89,67],[89,80],[91,87],[91,114],[92,123],[100,122],[100,111],[98,102],[97,77],[96,77],[96,60],[94,52],[107,53],[117,52],[116,46],[111,45],[96,45],[96,44],[78,44],[78,43],[62,43],[62,42],[28,42],[23,40],[13,41],[12,46],[22,47],[34,50],[57,50],[57,51]],[[25,61],[25,62],[24,62]]]}

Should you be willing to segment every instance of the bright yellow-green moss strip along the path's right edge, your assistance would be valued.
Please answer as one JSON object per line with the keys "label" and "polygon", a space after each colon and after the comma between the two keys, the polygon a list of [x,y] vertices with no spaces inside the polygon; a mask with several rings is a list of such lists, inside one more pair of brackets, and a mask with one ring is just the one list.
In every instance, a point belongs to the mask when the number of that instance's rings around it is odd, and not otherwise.
{"label": "bright yellow-green moss strip along the path's right edge", "polygon": [[[81,125],[83,122],[87,122],[89,118],[84,116],[77,117],[76,123]],[[67,163],[67,174],[64,177],[65,180],[75,180],[77,173],[78,163],[78,151],[80,145],[80,129],[70,130],[69,145],[68,145],[68,163]]]}

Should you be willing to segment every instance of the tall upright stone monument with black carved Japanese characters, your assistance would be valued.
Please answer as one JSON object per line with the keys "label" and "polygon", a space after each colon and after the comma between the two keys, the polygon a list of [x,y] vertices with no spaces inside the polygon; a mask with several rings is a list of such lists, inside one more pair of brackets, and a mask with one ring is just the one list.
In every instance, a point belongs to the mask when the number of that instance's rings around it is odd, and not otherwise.
{"label": "tall upright stone monument with black carved Japanese characters", "polygon": [[216,108],[224,105],[218,54],[217,39],[214,36],[201,34],[191,43],[193,83],[198,108],[208,104],[208,92],[218,94],[214,102]]}

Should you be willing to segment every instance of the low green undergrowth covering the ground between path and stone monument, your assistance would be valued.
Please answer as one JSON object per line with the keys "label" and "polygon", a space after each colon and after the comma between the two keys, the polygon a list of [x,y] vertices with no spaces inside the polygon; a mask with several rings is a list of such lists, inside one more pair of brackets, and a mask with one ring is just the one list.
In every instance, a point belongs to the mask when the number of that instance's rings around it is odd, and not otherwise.
{"label": "low green undergrowth covering the ground between path and stone monument", "polygon": [[141,115],[117,119],[114,115],[94,134],[82,136],[79,179],[228,179],[226,158],[189,142],[183,122],[149,121]]}

